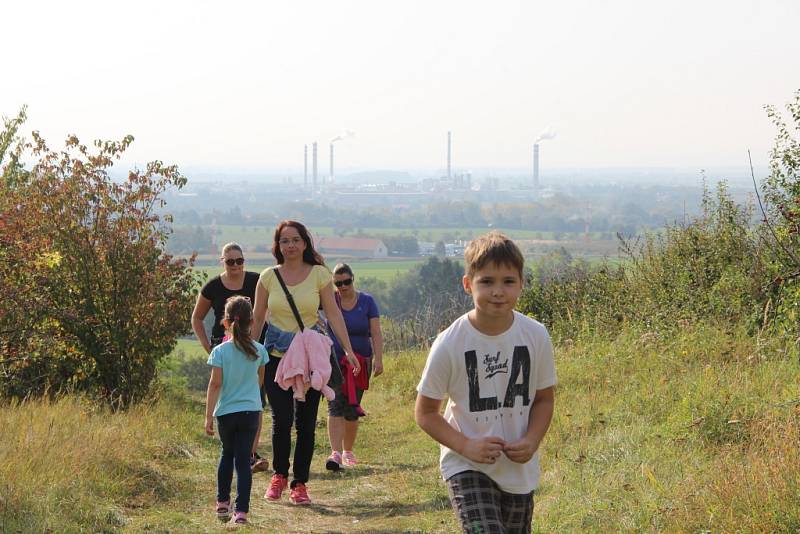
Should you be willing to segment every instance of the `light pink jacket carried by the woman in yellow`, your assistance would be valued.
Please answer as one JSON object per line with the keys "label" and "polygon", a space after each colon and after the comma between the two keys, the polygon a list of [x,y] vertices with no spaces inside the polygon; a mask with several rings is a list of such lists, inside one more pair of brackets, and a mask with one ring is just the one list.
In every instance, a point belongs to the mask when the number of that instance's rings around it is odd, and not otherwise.
{"label": "light pink jacket carried by the woman in yellow", "polygon": [[285,390],[292,388],[294,398],[306,400],[306,391],[312,387],[333,400],[336,396],[328,387],[331,377],[331,345],[333,342],[324,334],[306,328],[294,335],[292,343],[278,362],[275,382]]}

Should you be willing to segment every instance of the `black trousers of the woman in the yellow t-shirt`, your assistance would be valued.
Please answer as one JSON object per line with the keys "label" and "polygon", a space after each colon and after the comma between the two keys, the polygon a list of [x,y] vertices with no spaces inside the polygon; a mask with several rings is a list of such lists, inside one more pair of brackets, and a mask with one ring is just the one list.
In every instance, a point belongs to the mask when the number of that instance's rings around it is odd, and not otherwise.
{"label": "black trousers of the woman in the yellow t-shirt", "polygon": [[296,401],[292,389],[282,389],[275,383],[279,358],[270,357],[264,373],[264,387],[272,413],[272,469],[285,477],[289,476],[289,455],[292,452],[292,423],[297,429],[294,447],[294,478],[297,482],[308,482],[311,458],[314,455],[314,433],[317,426],[317,409],[320,392],[309,389],[305,402]]}

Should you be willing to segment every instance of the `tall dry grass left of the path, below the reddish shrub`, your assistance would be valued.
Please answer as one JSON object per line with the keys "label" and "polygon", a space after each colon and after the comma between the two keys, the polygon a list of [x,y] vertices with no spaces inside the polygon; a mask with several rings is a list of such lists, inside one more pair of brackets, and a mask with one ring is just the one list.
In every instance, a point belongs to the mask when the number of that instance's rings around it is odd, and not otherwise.
{"label": "tall dry grass left of the path, below the reddish shrub", "polygon": [[111,413],[77,396],[1,405],[0,532],[114,531],[130,510],[174,496],[183,482],[170,465],[192,457],[198,436],[187,407]]}

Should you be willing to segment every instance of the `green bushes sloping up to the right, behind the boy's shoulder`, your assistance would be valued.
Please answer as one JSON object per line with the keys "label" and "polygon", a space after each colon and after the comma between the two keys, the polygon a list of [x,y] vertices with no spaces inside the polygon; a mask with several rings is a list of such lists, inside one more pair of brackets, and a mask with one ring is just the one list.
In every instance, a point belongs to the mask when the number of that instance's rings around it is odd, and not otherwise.
{"label": "green bushes sloping up to the right, behind the boy's shoulder", "polygon": [[720,183],[705,189],[702,213],[683,226],[621,240],[625,261],[589,265],[565,251],[534,269],[519,309],[557,335],[614,334],[622,325],[675,329],[687,321],[760,326],[767,295],[764,249]]}

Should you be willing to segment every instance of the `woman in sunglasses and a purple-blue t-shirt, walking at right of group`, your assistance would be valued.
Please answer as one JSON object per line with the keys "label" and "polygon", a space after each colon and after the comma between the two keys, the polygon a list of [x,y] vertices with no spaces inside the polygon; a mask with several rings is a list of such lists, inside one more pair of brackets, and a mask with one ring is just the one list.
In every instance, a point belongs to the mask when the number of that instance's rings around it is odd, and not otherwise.
{"label": "woman in sunglasses and a purple-blue t-shirt, walking at right of group", "polygon": [[[383,335],[378,305],[369,293],[356,291],[354,278],[353,270],[346,263],[340,263],[333,268],[336,303],[342,310],[353,351],[363,356],[367,362],[367,369],[362,369],[361,372],[367,373],[367,377],[370,372],[378,376],[383,373]],[[333,339],[336,355],[341,359],[344,351],[336,339]],[[350,395],[345,394],[342,388],[337,388],[336,398],[328,403],[331,455],[326,460],[325,467],[330,471],[338,471],[342,466],[356,465],[353,446],[358,433],[358,418],[365,415],[361,409],[363,395],[364,390],[356,386],[354,404]]]}

